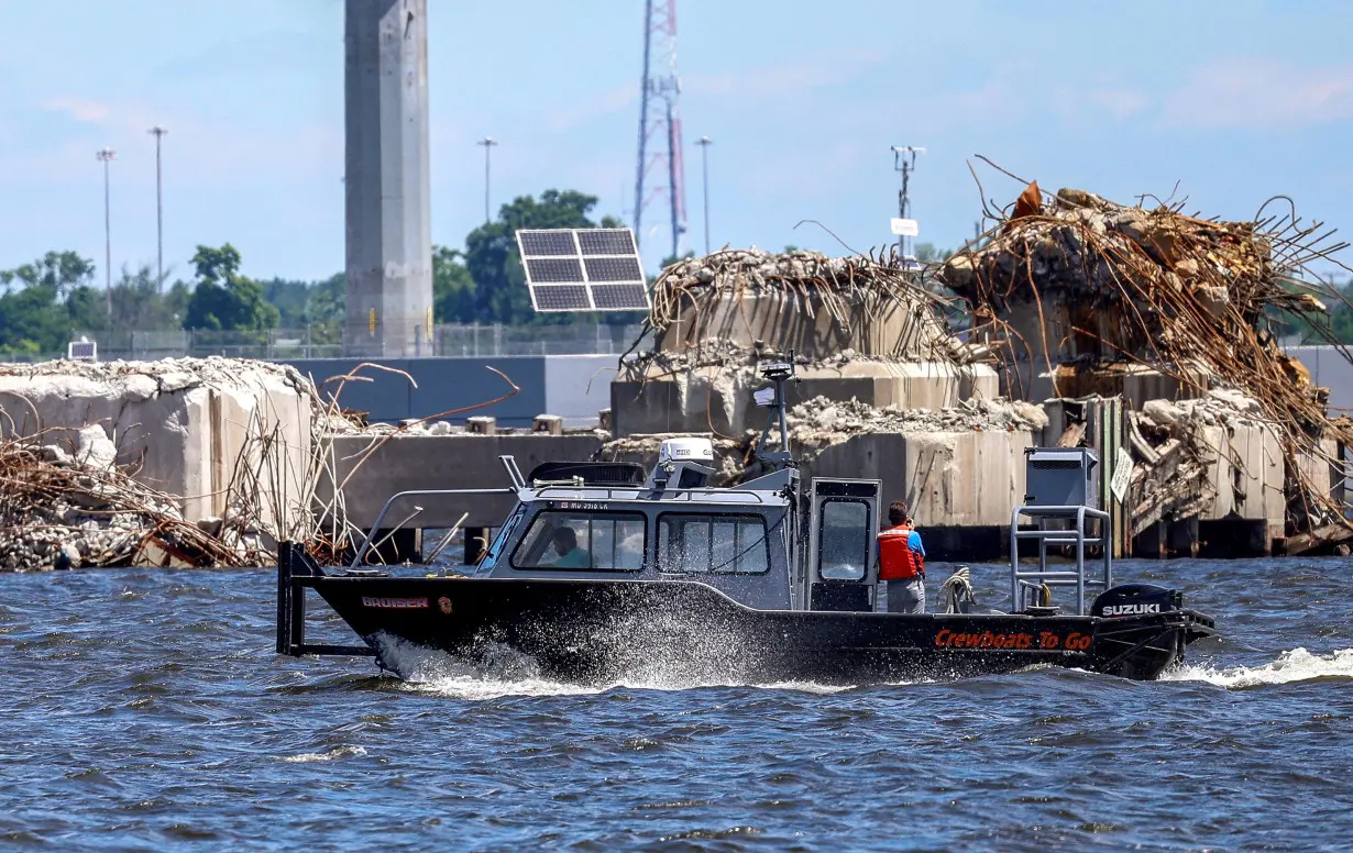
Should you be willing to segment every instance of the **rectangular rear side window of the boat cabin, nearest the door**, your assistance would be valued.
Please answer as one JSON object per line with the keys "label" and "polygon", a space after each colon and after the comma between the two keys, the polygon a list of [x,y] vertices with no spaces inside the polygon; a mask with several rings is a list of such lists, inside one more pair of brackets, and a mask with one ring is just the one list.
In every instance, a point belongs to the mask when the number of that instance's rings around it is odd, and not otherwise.
{"label": "rectangular rear side window of the boat cabin, nearest the door", "polygon": [[762,575],[770,570],[770,537],[760,515],[664,512],[658,519],[662,572]]}

